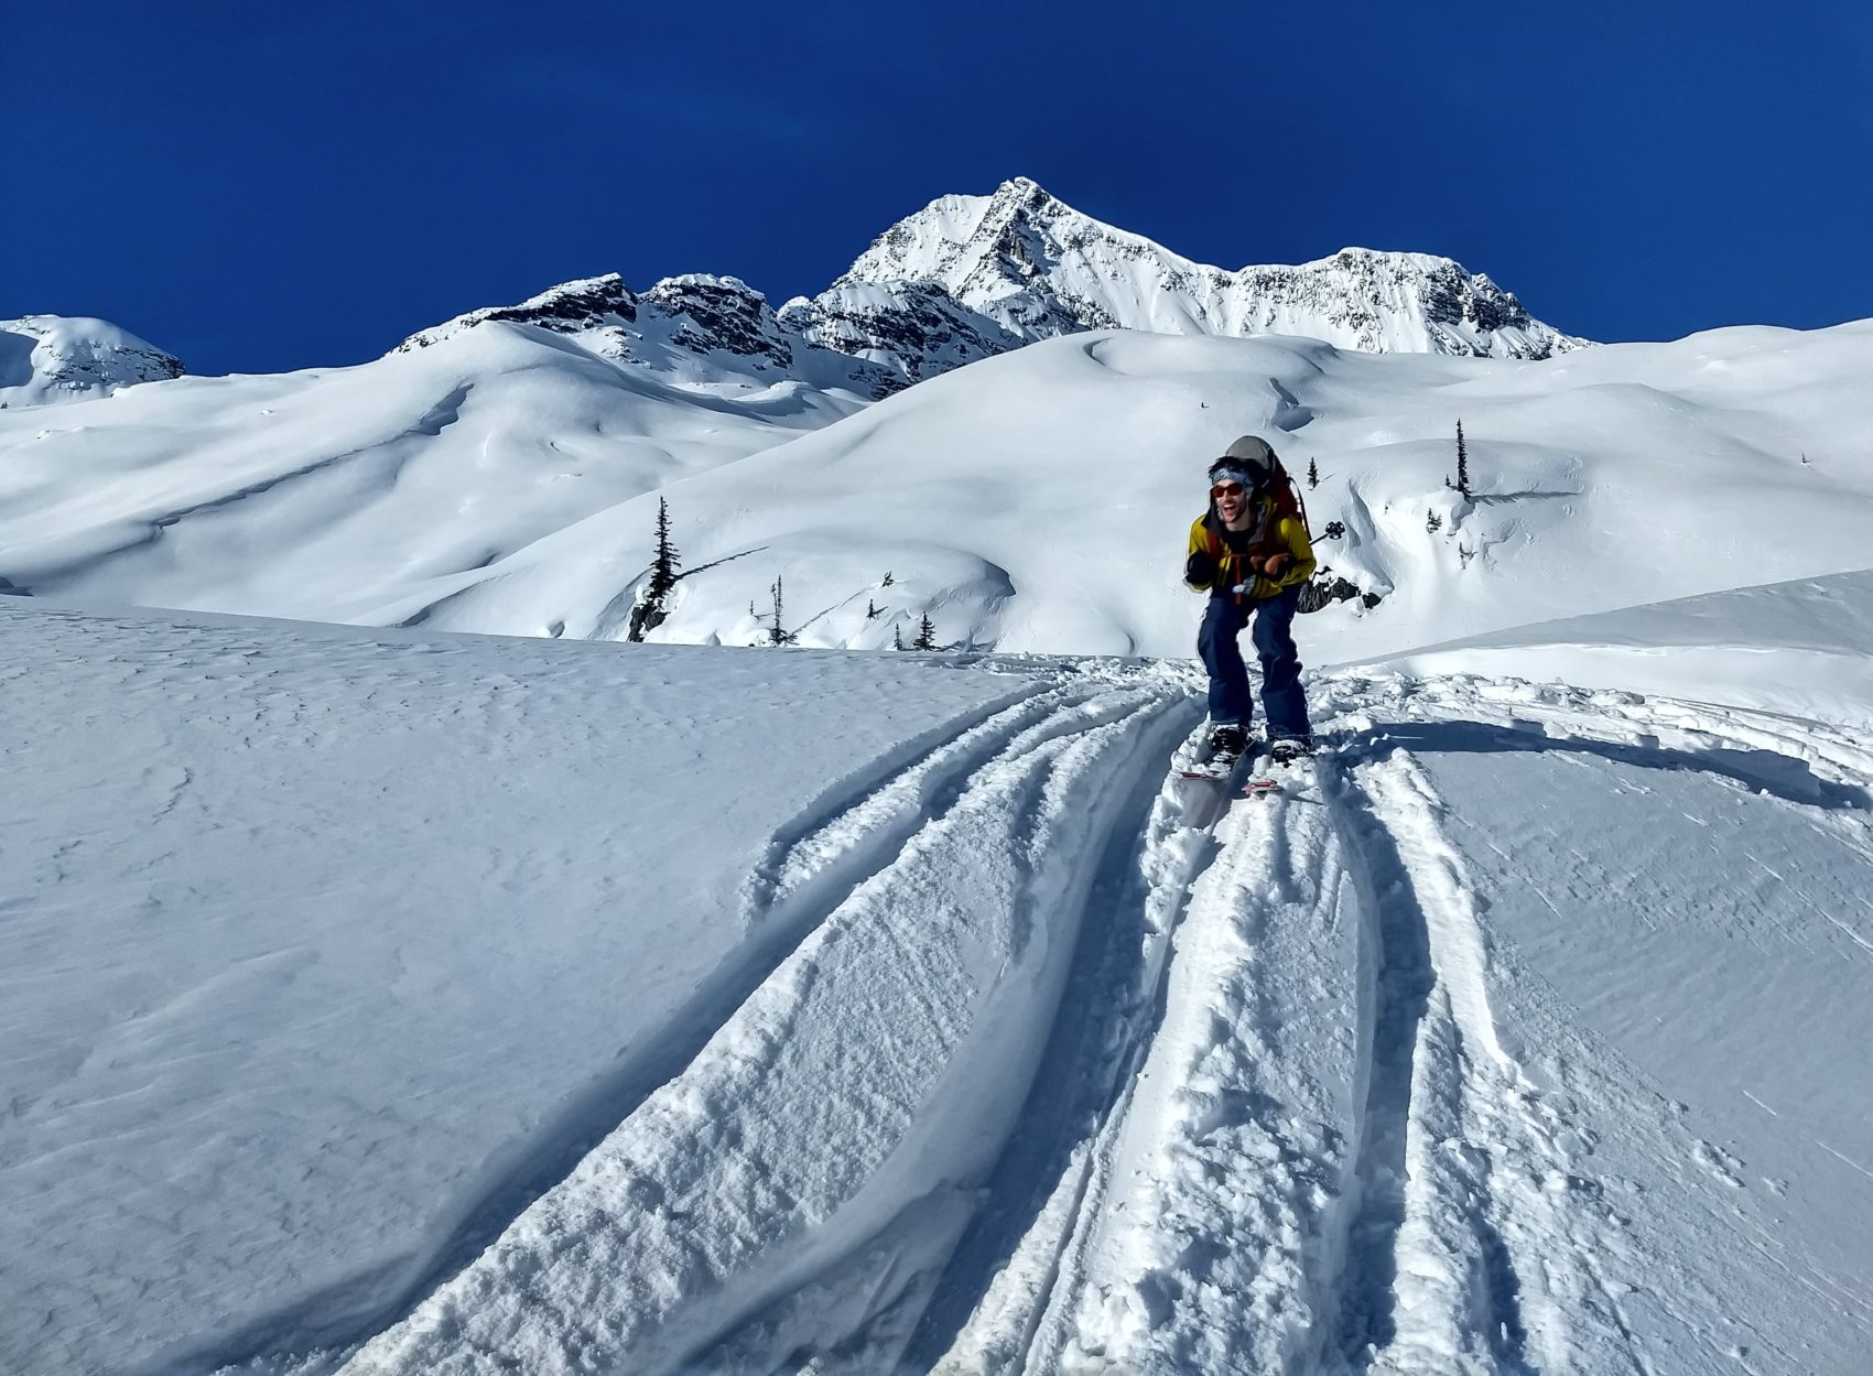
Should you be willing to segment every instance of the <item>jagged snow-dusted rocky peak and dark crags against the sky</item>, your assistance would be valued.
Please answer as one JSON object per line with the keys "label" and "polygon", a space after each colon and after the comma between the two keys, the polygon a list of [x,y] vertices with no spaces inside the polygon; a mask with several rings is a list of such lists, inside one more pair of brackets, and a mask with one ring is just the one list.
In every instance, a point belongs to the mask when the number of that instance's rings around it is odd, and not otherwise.
{"label": "jagged snow-dusted rocky peak and dark crags against the sky", "polygon": [[1450,258],[1341,249],[1298,268],[1227,271],[1083,215],[1026,178],[993,197],[933,200],[830,288],[779,313],[734,277],[669,277],[633,294],[611,275],[472,311],[403,346],[489,320],[573,335],[686,382],[779,373],[869,397],[1083,329],[1305,335],[1377,354],[1489,358],[1588,343]]}

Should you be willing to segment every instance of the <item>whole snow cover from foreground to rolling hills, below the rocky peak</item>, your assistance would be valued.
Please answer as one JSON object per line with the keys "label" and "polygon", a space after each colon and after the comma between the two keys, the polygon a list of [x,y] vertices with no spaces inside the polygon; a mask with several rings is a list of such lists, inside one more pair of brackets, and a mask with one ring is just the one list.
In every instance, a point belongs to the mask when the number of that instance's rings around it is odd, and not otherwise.
{"label": "whole snow cover from foreground to rolling hills, below the rocky peak", "polygon": [[[729,279],[30,320],[0,1372],[1867,1370],[1873,322],[871,403]],[[1244,432],[1341,597],[1272,798],[1176,771]]]}

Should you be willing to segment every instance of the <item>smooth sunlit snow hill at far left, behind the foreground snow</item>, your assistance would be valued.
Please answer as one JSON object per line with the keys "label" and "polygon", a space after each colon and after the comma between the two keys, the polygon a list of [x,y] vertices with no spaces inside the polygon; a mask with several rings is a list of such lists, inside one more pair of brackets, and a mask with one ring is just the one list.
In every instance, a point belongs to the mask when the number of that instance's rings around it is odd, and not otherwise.
{"label": "smooth sunlit snow hill at far left, behind the foreground snow", "polygon": [[[0,416],[0,578],[34,593],[393,623],[592,511],[860,401],[682,386],[489,322],[350,369],[182,378]],[[599,556],[620,586],[642,550]],[[7,584],[0,584],[4,588]],[[549,635],[551,616],[523,633]]]}

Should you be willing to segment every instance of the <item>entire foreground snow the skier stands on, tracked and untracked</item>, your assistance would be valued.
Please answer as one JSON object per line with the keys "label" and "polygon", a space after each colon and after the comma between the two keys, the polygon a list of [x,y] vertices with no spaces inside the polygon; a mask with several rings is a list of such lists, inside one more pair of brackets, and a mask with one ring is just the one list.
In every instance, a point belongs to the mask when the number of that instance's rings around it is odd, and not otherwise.
{"label": "entire foreground snow the skier stands on, tracked and untracked", "polygon": [[0,603],[0,1370],[1851,1376],[1869,620],[1225,811],[1180,665]]}

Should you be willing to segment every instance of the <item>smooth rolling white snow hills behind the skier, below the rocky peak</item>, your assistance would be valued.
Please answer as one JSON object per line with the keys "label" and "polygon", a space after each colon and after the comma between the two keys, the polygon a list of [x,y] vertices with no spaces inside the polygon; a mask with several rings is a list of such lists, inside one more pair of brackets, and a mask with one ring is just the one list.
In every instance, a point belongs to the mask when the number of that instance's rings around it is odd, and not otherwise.
{"label": "smooth rolling white snow hills behind the skier, below the rocky peak", "polygon": [[779,580],[804,646],[929,616],[946,648],[1186,655],[1204,464],[1261,432],[1319,474],[1349,599],[1304,640],[1345,663],[1866,567],[1869,369],[1867,322],[1545,361],[1083,333],[865,404],[491,318],[354,369],[0,414],[0,592],[616,640],[667,500],[656,640],[766,640]]}

